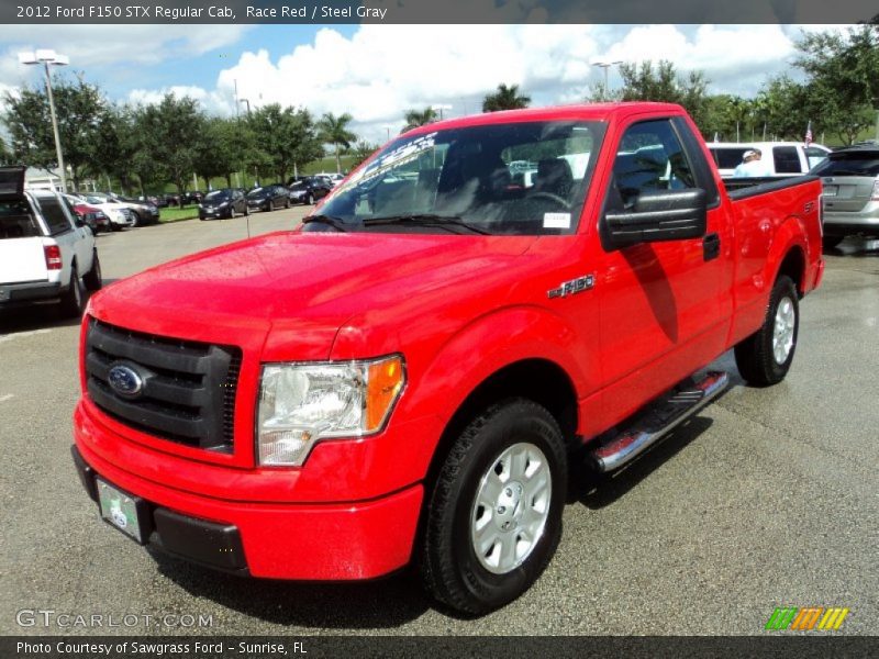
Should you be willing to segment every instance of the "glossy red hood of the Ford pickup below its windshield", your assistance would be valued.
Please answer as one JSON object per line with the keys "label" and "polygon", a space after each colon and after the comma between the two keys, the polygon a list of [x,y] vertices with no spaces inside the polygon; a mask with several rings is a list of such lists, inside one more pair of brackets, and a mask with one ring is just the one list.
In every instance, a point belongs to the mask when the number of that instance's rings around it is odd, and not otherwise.
{"label": "glossy red hood of the Ford pickup below its windshield", "polygon": [[242,347],[270,334],[268,358],[325,359],[348,319],[418,321],[424,306],[413,301],[447,303],[455,291],[474,292],[535,239],[276,233],[119,281],[94,297],[91,312],[130,330]]}

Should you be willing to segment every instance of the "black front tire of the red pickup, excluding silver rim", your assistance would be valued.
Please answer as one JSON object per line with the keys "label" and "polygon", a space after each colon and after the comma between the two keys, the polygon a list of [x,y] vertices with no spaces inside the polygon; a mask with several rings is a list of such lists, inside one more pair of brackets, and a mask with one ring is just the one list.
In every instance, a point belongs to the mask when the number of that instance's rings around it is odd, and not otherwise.
{"label": "black front tire of the red pickup, excluding silver rim", "polygon": [[[501,457],[504,451],[518,446],[531,446],[539,449],[545,463],[539,460],[550,476],[548,489],[543,498],[545,509],[543,528],[535,534],[536,539],[526,550],[521,563],[513,565],[507,571],[490,570],[486,561],[493,555],[503,554],[503,544],[492,544],[490,549],[477,556],[475,526],[478,518],[488,514],[486,527],[496,538],[515,539],[518,547],[526,522],[522,515],[531,514],[524,510],[523,502],[532,499],[532,506],[538,494],[527,493],[512,476],[503,481],[502,491],[511,493],[508,488],[519,485],[515,504],[504,507],[478,505],[477,495],[486,488],[483,478],[500,472]],[[521,462],[520,462],[521,463]],[[530,461],[525,462],[531,465]],[[512,469],[513,460],[509,462]],[[527,483],[527,481],[524,481]],[[567,455],[561,431],[556,420],[541,405],[525,399],[511,399],[492,405],[479,414],[465,428],[453,445],[442,466],[433,490],[429,492],[425,511],[424,533],[419,551],[419,566],[425,589],[439,602],[452,608],[469,614],[482,615],[512,602],[524,593],[543,573],[555,554],[561,537],[561,511],[567,492]],[[524,496],[523,496],[524,494]],[[499,500],[500,501],[500,500]],[[499,503],[500,505],[500,503]],[[512,514],[512,528],[500,527],[502,513]],[[519,515],[519,516],[516,516]],[[509,520],[507,523],[510,523]],[[499,530],[496,530],[496,527]],[[497,549],[497,551],[496,551]],[[515,556],[514,556],[515,558]],[[516,560],[520,560],[516,558]],[[500,568],[501,570],[503,568]]]}

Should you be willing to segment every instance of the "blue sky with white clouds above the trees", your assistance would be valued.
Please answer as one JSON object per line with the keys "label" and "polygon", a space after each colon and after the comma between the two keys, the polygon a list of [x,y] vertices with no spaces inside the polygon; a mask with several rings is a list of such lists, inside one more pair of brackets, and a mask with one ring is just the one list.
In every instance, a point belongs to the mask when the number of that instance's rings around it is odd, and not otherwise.
{"label": "blue sky with white clouds above the trees", "polygon": [[[0,92],[40,85],[16,54],[54,48],[113,101],[151,103],[166,92],[232,115],[278,102],[354,116],[372,143],[410,109],[474,114],[500,82],[532,105],[581,101],[603,80],[598,60],[671,60],[701,70],[711,93],[753,97],[772,76],[798,76],[794,43],[830,25],[24,25],[0,34]],[[611,89],[621,85],[611,67]],[[1,104],[1,103],[0,103]],[[245,104],[238,105],[244,111]],[[2,109],[0,108],[0,111]]]}

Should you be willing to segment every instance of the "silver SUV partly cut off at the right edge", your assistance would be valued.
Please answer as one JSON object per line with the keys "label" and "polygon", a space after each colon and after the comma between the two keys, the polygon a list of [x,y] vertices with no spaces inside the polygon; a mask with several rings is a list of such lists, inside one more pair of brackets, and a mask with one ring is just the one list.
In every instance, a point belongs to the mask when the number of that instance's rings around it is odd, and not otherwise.
{"label": "silver SUV partly cut off at the right edge", "polygon": [[852,235],[879,238],[879,143],[833,152],[810,174],[824,182],[824,246]]}

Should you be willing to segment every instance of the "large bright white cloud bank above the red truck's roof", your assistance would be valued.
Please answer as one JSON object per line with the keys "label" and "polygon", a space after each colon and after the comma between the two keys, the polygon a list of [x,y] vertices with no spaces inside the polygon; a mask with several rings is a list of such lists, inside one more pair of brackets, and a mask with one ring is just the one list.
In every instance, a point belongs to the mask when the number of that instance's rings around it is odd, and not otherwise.
{"label": "large bright white cloud bank above the red truck's roof", "polygon": [[[355,129],[382,141],[409,109],[478,112],[500,82],[519,85],[533,104],[577,102],[601,79],[597,58],[668,59],[681,72],[704,71],[712,92],[753,96],[790,68],[799,35],[779,25],[363,25],[346,37],[327,27],[276,59],[242,54],[216,91],[231,99],[237,83],[253,107],[349,112]],[[611,72],[611,86],[619,83]]]}

